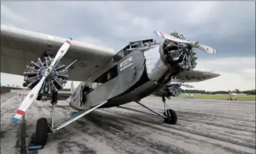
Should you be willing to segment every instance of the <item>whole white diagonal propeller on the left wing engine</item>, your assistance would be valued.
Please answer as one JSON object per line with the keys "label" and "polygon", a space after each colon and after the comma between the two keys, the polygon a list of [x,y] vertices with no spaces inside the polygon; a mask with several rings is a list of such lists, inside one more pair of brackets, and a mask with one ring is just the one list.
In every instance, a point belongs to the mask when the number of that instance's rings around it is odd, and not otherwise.
{"label": "whole white diagonal propeller on the left wing engine", "polygon": [[33,87],[31,91],[29,91],[29,93],[27,94],[23,102],[20,104],[20,107],[16,111],[16,114],[13,118],[13,123],[17,123],[18,120],[21,117],[23,117],[27,108],[29,108],[29,106],[33,103],[33,101],[38,97],[38,93],[42,88],[44,81],[46,80],[48,75],[51,74],[51,71],[53,70],[53,67],[55,66],[55,64],[66,54],[66,52],[68,51],[68,48],[70,48],[71,41],[72,41],[72,38],[70,37],[69,40],[66,40],[66,42],[61,46],[61,48],[59,48],[55,58],[53,59],[51,65],[49,65],[46,71],[44,72],[40,82],[38,82],[38,84],[36,84],[35,87]]}

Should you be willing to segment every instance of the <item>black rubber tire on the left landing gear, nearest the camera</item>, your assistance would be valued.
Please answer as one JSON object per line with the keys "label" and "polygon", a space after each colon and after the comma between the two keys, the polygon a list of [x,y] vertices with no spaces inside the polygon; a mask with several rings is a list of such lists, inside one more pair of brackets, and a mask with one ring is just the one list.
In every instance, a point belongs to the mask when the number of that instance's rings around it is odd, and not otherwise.
{"label": "black rubber tire on the left landing gear, nearest the camera", "polygon": [[40,118],[36,122],[35,129],[35,144],[45,145],[48,138],[48,123],[47,119]]}

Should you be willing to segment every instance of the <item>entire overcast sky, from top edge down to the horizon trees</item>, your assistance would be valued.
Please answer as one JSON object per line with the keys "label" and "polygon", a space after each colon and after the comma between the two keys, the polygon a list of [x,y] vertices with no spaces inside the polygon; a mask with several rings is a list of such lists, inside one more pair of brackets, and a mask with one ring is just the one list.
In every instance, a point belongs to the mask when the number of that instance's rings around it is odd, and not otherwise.
{"label": "entire overcast sky, from top edge down to the horizon trees", "polygon": [[[216,48],[217,55],[197,50],[196,69],[214,70],[221,76],[193,83],[195,89],[255,89],[255,2],[5,1],[1,24],[60,37],[72,35],[114,49],[135,40],[161,41],[155,29],[180,31],[190,40]],[[21,76],[1,73],[1,84],[22,83]]]}

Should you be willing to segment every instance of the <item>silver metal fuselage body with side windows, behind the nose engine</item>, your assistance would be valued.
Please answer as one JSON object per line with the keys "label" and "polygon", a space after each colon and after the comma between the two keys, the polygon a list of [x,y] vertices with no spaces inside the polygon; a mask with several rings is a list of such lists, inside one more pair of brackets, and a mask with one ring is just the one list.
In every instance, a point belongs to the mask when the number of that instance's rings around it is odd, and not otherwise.
{"label": "silver metal fuselage body with side windows, behind the nose engine", "polygon": [[134,102],[156,90],[157,82],[168,71],[162,63],[159,45],[142,52],[135,50],[119,61],[109,61],[85,82],[81,82],[70,97],[77,109],[91,108],[109,100],[102,108]]}

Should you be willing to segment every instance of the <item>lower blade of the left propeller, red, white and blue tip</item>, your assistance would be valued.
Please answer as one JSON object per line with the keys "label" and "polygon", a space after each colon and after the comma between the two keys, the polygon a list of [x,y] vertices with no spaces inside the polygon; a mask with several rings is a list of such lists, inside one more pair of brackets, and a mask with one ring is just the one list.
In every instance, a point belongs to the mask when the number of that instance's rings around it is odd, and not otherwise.
{"label": "lower blade of the left propeller, red, white and blue tip", "polygon": [[27,108],[29,108],[29,106],[33,103],[33,101],[38,97],[38,92],[40,91],[45,79],[46,79],[46,76],[43,76],[40,82],[38,82],[38,84],[36,84],[36,86],[33,87],[31,91],[29,91],[29,93],[27,94],[23,102],[20,104],[20,107],[16,111],[16,114],[12,120],[13,123],[17,123],[18,120],[21,117],[23,117]]}

